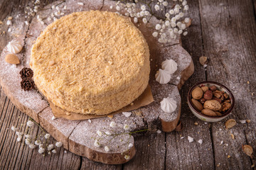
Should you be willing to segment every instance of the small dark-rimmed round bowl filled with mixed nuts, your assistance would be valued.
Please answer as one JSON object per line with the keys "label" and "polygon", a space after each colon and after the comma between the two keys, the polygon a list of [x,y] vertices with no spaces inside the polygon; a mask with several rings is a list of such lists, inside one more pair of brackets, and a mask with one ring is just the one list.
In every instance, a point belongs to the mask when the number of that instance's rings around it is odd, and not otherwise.
{"label": "small dark-rimmed round bowl filled with mixed nuts", "polygon": [[203,81],[188,91],[188,106],[197,118],[206,122],[218,122],[231,113],[235,98],[222,84]]}

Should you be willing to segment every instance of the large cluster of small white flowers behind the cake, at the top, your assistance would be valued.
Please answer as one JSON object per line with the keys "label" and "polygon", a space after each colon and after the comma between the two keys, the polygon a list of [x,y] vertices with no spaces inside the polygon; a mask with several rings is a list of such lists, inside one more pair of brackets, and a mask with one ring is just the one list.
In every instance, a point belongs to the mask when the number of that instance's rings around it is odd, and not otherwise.
{"label": "large cluster of small white flowers behind the cake, at the top", "polygon": [[[153,0],[152,0],[153,1]],[[174,0],[176,5],[174,8],[171,8],[169,11],[165,13],[164,19],[161,19],[159,23],[156,24],[154,33],[152,35],[155,38],[158,38],[158,41],[161,43],[171,42],[171,40],[175,40],[177,35],[187,35],[188,32],[186,31],[187,24],[190,22],[190,18],[183,19],[186,11],[188,11],[188,5],[186,0]],[[127,11],[124,15],[133,17],[134,23],[138,23],[138,18],[142,18],[143,23],[147,23],[151,18],[151,10],[150,6],[141,5],[140,8],[137,7],[138,1],[135,3],[124,3],[117,1],[116,10]],[[168,6],[168,2],[164,0],[158,0],[154,9],[156,11],[164,11],[165,6]],[[117,12],[119,13],[119,12]]]}

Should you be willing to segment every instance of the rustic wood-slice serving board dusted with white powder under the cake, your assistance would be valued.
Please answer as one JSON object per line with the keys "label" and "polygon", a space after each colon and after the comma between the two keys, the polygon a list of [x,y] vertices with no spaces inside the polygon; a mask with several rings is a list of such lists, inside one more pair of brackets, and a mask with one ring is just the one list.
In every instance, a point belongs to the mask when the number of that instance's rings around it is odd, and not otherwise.
{"label": "rustic wood-slice serving board dusted with white powder under the cake", "polygon": [[[151,74],[149,85],[154,97],[154,102],[148,106],[132,111],[130,117],[125,117],[122,113],[114,115],[113,118],[95,118],[91,120],[66,120],[57,118],[52,120],[53,113],[46,99],[36,90],[23,91],[20,86],[21,77],[19,71],[23,67],[29,67],[31,46],[35,42],[41,31],[46,28],[53,20],[50,21],[50,13],[58,12],[51,6],[55,5],[60,8],[64,15],[68,15],[75,11],[114,11],[110,6],[115,6],[114,1],[82,1],[83,5],[78,5],[77,0],[55,1],[36,13],[36,16],[30,23],[26,35],[18,37],[23,42],[23,50],[18,54],[21,64],[8,64],[4,61],[4,57],[9,52],[5,47],[0,57],[0,83],[6,95],[11,99],[14,105],[23,113],[33,118],[37,123],[46,129],[55,140],[63,142],[63,147],[70,152],[87,157],[96,162],[105,164],[123,164],[134,157],[136,149],[128,147],[127,144],[134,144],[132,135],[118,135],[113,140],[112,136],[107,136],[100,140],[102,147],[95,147],[97,130],[102,132],[110,131],[118,133],[123,131],[123,125],[129,125],[129,131],[149,129],[155,131],[161,128],[164,132],[175,130],[181,115],[181,96],[178,92],[188,77],[193,74],[193,61],[186,50],[181,47],[180,38],[172,40],[166,44],[159,44],[156,38],[151,34],[154,32],[154,26],[159,21],[151,17],[149,23],[144,24],[139,21],[135,24],[142,31],[149,45],[151,59]],[[63,7],[67,6],[64,10]],[[38,21],[37,16],[43,19]],[[56,18],[60,18],[56,17]],[[171,75],[169,84],[159,84],[155,80],[156,71],[161,68],[161,62],[166,59],[172,59],[177,62],[178,70]],[[171,96],[178,104],[174,113],[164,113],[160,107],[160,101],[163,98]],[[110,122],[116,122],[117,128],[110,128]],[[129,141],[129,142],[127,142]],[[105,152],[104,146],[110,147],[110,152]],[[124,159],[124,155],[129,155],[128,159]]]}

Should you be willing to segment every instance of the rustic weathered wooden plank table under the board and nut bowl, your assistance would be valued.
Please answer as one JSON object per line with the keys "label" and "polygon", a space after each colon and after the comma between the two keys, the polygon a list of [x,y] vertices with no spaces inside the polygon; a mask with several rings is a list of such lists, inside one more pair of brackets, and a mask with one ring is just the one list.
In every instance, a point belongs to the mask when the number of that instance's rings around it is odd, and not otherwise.
{"label": "rustic weathered wooden plank table under the board and nut bowl", "polygon": [[[41,8],[53,1],[41,0]],[[0,52],[13,38],[5,24],[7,18],[22,16],[26,7],[33,5],[29,0],[0,0],[0,21],[3,21]],[[136,137],[137,154],[122,165],[92,162],[63,148],[57,154],[42,157],[36,149],[16,142],[10,127],[26,123],[28,116],[18,111],[0,89],[0,169],[253,169],[256,164],[256,1],[198,0],[188,1],[188,5],[188,16],[193,21],[182,43],[193,57],[195,73],[181,89],[182,132]],[[25,18],[18,20],[25,21]],[[202,55],[210,59],[206,69],[198,62]],[[218,81],[233,91],[235,109],[228,118],[238,121],[234,128],[225,130],[225,120],[204,123],[189,111],[188,89],[205,80]],[[239,122],[245,119],[251,123]],[[36,128],[34,135],[40,132]],[[188,136],[194,142],[189,143]],[[203,144],[198,140],[203,140]],[[242,152],[242,145],[246,144],[254,149],[252,159]]]}

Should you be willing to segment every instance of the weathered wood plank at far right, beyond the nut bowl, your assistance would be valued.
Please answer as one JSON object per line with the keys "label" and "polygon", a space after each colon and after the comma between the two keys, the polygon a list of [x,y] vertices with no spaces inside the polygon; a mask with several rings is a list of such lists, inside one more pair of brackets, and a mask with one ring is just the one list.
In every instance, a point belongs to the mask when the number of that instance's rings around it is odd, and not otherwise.
{"label": "weathered wood plank at far right, beyond the nut bowl", "polygon": [[[200,12],[203,47],[210,58],[207,78],[234,92],[235,109],[229,118],[251,119],[248,126],[255,127],[256,101],[252,93],[255,93],[256,37],[252,35],[256,23],[252,1],[200,1]],[[212,125],[216,168],[250,169],[250,157],[241,152],[249,134],[241,125],[224,130],[223,123]],[[255,133],[255,128],[251,132]],[[235,140],[230,133],[235,135]],[[225,145],[220,145],[221,140]]]}

